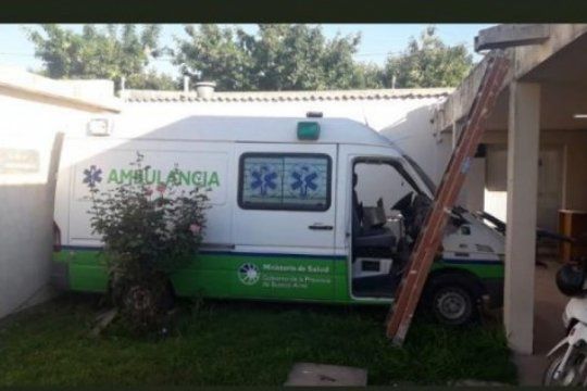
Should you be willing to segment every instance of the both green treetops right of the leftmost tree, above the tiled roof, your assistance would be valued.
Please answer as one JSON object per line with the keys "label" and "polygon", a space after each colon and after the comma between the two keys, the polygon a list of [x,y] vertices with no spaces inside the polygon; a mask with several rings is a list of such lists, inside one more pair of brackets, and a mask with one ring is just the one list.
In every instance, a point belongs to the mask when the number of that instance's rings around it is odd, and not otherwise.
{"label": "both green treetops right of the leftmost tree, above the tiled roof", "polygon": [[174,63],[199,80],[216,81],[218,90],[323,90],[457,86],[473,60],[463,45],[444,43],[434,27],[412,39],[384,68],[357,62],[360,35],[328,40],[320,26],[259,25],[254,35],[240,28],[187,26]]}

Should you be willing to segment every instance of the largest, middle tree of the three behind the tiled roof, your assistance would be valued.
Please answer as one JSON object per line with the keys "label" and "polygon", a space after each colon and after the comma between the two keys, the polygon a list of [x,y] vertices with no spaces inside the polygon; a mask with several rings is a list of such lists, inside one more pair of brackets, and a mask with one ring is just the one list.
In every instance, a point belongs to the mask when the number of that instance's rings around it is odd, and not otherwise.
{"label": "largest, middle tree of the three behind the tiled roof", "polygon": [[354,88],[358,83],[353,54],[360,35],[328,40],[320,26],[302,24],[262,24],[254,35],[217,25],[187,26],[186,33],[174,63],[222,90]]}

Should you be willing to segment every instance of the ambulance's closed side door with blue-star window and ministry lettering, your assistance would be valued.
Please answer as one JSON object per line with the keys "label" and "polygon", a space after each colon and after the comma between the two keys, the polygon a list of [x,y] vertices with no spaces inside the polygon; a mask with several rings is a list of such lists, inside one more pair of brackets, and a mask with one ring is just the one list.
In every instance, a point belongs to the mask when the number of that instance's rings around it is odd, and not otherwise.
{"label": "ambulance's closed side door with blue-star window and ministry lettering", "polygon": [[336,144],[238,143],[236,294],[330,299]]}

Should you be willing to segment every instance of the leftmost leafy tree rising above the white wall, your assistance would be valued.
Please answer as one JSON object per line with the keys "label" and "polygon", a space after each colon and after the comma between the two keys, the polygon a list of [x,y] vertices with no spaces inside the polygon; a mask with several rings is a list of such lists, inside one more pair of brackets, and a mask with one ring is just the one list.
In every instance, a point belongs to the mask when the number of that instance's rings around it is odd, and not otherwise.
{"label": "leftmost leafy tree rising above the white wall", "polygon": [[[54,24],[27,29],[35,45],[35,55],[42,60],[45,74],[52,78],[107,78],[126,86],[168,88],[173,80],[154,71],[146,73],[150,61],[162,53],[159,48],[161,27],[147,25],[137,31],[136,25],[108,25],[99,29],[84,25],[75,33]],[[170,80],[172,83],[170,83]]]}

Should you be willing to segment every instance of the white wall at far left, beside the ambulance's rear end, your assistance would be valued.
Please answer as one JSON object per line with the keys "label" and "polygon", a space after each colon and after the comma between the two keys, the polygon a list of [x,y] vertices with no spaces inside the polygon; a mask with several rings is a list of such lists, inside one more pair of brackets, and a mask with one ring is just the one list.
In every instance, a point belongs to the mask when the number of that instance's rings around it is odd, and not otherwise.
{"label": "white wall at far left, beside the ambulance's rear end", "polygon": [[38,303],[48,287],[59,135],[100,111],[0,88],[0,317]]}

